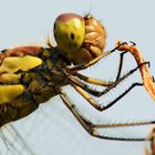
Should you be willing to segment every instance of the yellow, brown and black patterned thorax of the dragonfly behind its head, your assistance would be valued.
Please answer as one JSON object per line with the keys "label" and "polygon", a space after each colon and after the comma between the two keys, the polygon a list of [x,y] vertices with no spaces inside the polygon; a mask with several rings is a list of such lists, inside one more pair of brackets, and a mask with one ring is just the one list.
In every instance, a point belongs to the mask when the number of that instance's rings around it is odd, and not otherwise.
{"label": "yellow, brown and black patterned thorax of the dragonfly behind its head", "polygon": [[0,126],[32,113],[68,84],[59,69],[66,63],[54,48],[38,50],[35,46],[20,46],[1,53]]}

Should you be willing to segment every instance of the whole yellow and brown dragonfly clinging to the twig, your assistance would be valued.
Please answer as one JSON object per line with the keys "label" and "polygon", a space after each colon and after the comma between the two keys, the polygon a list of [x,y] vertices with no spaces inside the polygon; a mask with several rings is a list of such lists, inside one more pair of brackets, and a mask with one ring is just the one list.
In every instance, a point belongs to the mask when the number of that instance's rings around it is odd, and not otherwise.
{"label": "whole yellow and brown dragonfly clinging to the twig", "polygon": [[[99,104],[93,97],[100,97],[116,87],[138,69],[146,68],[148,62],[141,62],[136,68],[122,75],[123,59],[127,53],[126,42],[117,44],[111,51],[104,51],[105,28],[91,14],[81,17],[75,13],[62,13],[54,22],[54,38],[58,43],[53,46],[48,39],[48,48],[17,46],[4,49],[0,53],[0,127],[18,121],[34,112],[40,104],[59,95],[62,103],[70,110],[78,122],[91,135],[103,140],[145,141],[145,137],[106,136],[97,132],[105,127],[125,127],[154,124],[154,121],[134,123],[97,124],[87,120],[71,101],[64,85],[71,85],[87,103],[100,112],[108,110],[134,87],[143,86],[135,82],[107,105]],[[123,50],[122,50],[123,48]],[[127,49],[126,48],[126,49]],[[127,49],[127,50],[130,50]],[[115,51],[121,52],[120,64],[115,81],[101,81],[79,73],[96,64],[101,59]],[[103,91],[92,89],[89,84],[100,85]]]}

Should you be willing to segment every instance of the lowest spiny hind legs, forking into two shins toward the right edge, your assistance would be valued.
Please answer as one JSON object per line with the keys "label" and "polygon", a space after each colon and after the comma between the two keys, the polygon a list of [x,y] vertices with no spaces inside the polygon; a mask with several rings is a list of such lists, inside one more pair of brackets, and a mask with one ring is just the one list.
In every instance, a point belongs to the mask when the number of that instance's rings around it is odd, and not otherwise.
{"label": "lowest spiny hind legs, forking into two shins toward the right edge", "polygon": [[84,127],[84,130],[94,137],[104,138],[104,140],[115,140],[115,141],[145,141],[145,138],[104,136],[104,135],[100,135],[100,133],[97,133],[96,128],[147,125],[147,124],[155,123],[155,122],[141,122],[141,123],[128,123],[128,124],[127,123],[126,124],[93,124],[91,121],[89,121],[85,116],[83,116],[80,113],[78,107],[71,102],[71,100],[68,97],[68,95],[63,91],[60,92],[60,97],[62,99],[63,103],[68,106],[68,108],[71,111],[71,113],[80,122],[80,124]]}

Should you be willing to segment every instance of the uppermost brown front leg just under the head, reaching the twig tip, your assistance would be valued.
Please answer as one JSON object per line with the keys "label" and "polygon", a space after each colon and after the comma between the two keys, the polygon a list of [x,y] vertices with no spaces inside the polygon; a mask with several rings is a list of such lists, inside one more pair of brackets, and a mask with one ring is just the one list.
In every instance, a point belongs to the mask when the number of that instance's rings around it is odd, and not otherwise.
{"label": "uppermost brown front leg just under the head, reaching the twig tip", "polygon": [[76,72],[76,71],[84,70],[84,69],[86,69],[86,68],[89,68],[89,66],[91,66],[91,65],[97,63],[102,58],[105,58],[105,56],[110,55],[111,53],[113,53],[114,51],[116,51],[117,49],[120,49],[120,48],[121,48],[122,45],[124,45],[124,44],[126,44],[126,42],[123,42],[123,43],[118,44],[118,45],[117,45],[116,48],[114,48],[113,50],[103,53],[102,55],[100,55],[100,56],[93,59],[92,61],[90,61],[90,62],[86,63],[86,64],[80,64],[80,65],[75,65],[75,66],[70,66],[70,65],[69,65],[69,66],[66,66],[66,70],[68,70],[69,72]]}

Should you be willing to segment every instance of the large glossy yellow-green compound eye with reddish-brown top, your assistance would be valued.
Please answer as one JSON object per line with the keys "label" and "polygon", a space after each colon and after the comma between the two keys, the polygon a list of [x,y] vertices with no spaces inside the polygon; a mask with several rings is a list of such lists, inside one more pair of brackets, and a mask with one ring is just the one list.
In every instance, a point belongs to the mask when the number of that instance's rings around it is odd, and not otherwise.
{"label": "large glossy yellow-green compound eye with reddish-brown top", "polygon": [[84,20],[79,14],[63,13],[56,18],[53,31],[59,48],[68,54],[75,53],[84,40]]}

